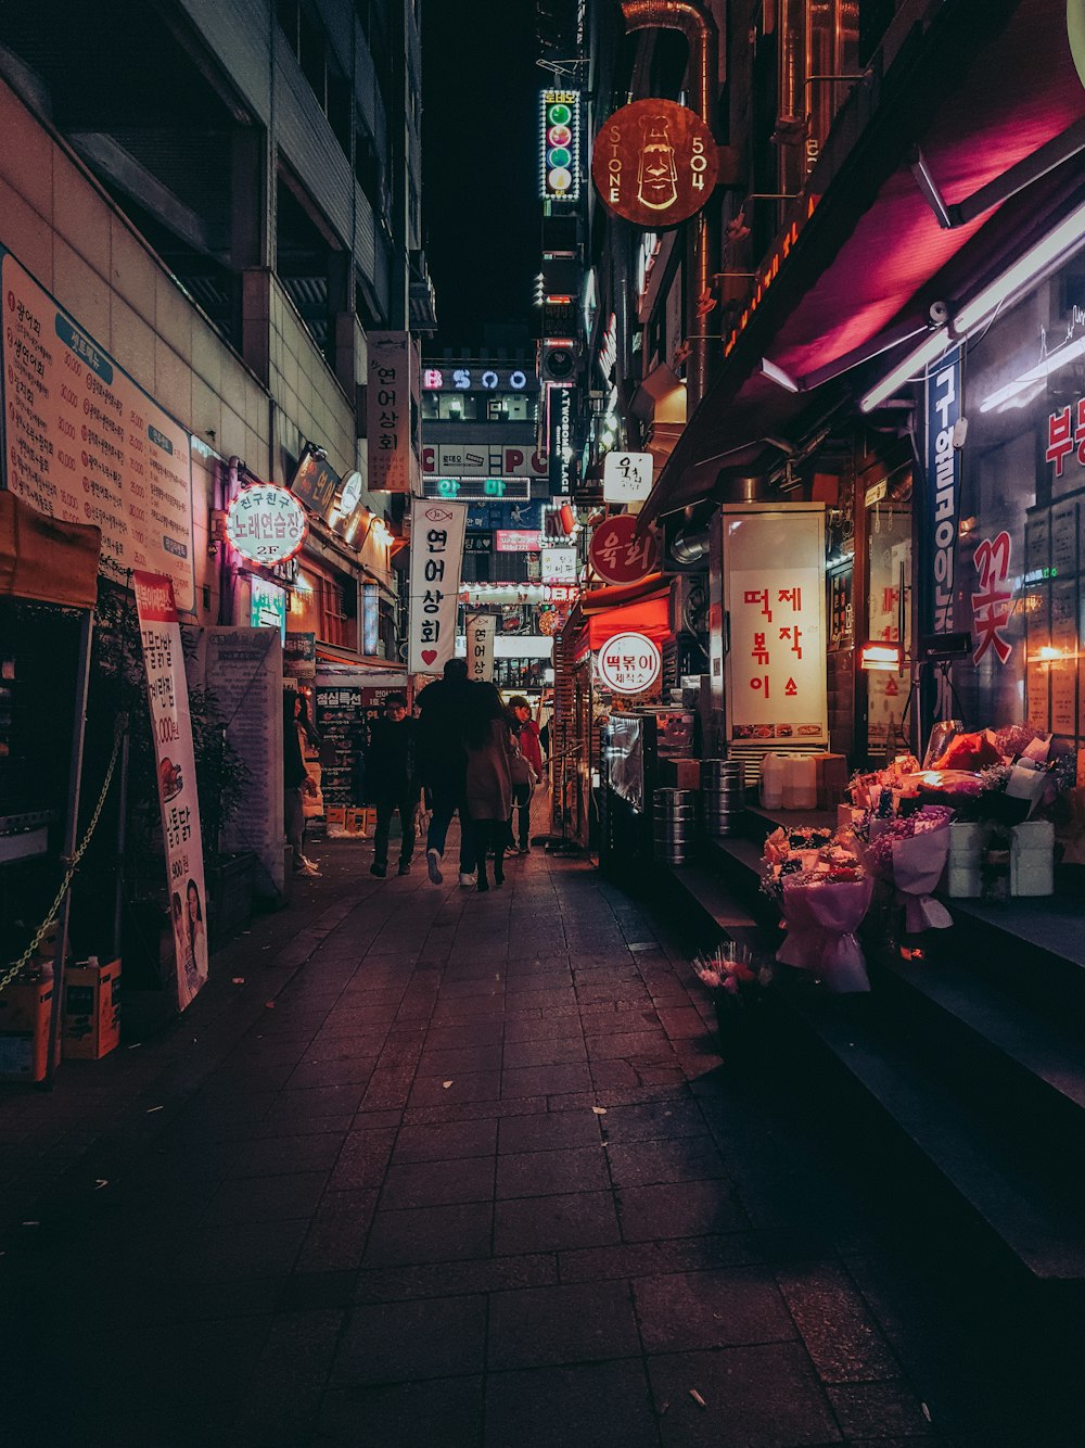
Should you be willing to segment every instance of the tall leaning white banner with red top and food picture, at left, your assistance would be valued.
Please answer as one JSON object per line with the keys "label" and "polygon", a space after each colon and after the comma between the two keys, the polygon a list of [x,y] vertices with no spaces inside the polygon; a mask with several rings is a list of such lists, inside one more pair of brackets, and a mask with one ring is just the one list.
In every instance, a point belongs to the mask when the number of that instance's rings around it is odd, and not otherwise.
{"label": "tall leaning white banner with red top and food picture, at left", "polygon": [[133,581],[176,946],[176,1003],[184,1011],[207,985],[207,893],[188,681],[172,582],[161,573],[139,572],[133,573]]}

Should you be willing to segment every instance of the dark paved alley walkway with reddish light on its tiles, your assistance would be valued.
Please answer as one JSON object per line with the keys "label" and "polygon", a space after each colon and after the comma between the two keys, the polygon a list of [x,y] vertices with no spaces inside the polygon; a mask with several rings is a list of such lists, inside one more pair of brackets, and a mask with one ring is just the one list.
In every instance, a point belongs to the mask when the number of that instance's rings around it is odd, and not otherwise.
{"label": "dark paved alley walkway with reddish light on its tiles", "polygon": [[819,1083],[720,1067],[676,922],[538,850],[488,896],[314,853],[176,1027],[0,1087],[0,1441],[1079,1441]]}

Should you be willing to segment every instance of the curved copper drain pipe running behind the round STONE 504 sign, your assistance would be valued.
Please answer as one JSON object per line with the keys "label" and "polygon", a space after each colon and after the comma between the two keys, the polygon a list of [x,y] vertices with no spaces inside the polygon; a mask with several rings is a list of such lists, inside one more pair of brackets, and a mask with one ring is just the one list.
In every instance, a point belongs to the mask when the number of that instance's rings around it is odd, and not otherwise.
{"label": "curved copper drain pipe running behind the round STONE 504 sign", "polygon": [[[716,135],[716,88],[719,84],[719,30],[700,0],[622,0],[626,33],[634,30],[680,30],[690,48],[693,106]],[[719,339],[719,304],[703,314],[700,300],[716,300],[712,282],[719,271],[720,214],[712,197],[690,217],[686,248],[686,340],[690,346],[686,390],[690,413],[709,388],[712,355]]]}

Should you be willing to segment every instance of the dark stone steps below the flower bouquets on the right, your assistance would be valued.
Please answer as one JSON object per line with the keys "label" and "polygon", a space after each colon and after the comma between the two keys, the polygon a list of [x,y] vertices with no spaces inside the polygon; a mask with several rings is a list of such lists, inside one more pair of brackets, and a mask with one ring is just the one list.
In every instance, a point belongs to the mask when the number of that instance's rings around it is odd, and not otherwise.
{"label": "dark stone steps below the flower bouquets on the right", "polygon": [[[786,817],[784,817],[786,818]],[[796,817],[797,818],[797,817]],[[804,814],[803,822],[816,822]],[[761,847],[778,820],[746,809],[745,834],[673,870],[706,934],[774,954]],[[787,1053],[829,1074],[878,1154],[891,1141],[1044,1293],[1085,1289],[1085,905],[948,901],[955,925],[924,960],[867,941],[872,990],[832,996],[778,967]]]}

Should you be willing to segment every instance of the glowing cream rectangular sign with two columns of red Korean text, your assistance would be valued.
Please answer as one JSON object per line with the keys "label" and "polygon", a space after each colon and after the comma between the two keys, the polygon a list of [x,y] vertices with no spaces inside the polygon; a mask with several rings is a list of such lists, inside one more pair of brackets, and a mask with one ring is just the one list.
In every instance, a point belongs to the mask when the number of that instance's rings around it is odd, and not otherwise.
{"label": "glowing cream rectangular sign with two columns of red Korean text", "polygon": [[823,511],[793,507],[723,515],[726,707],[736,740],[829,737]]}

